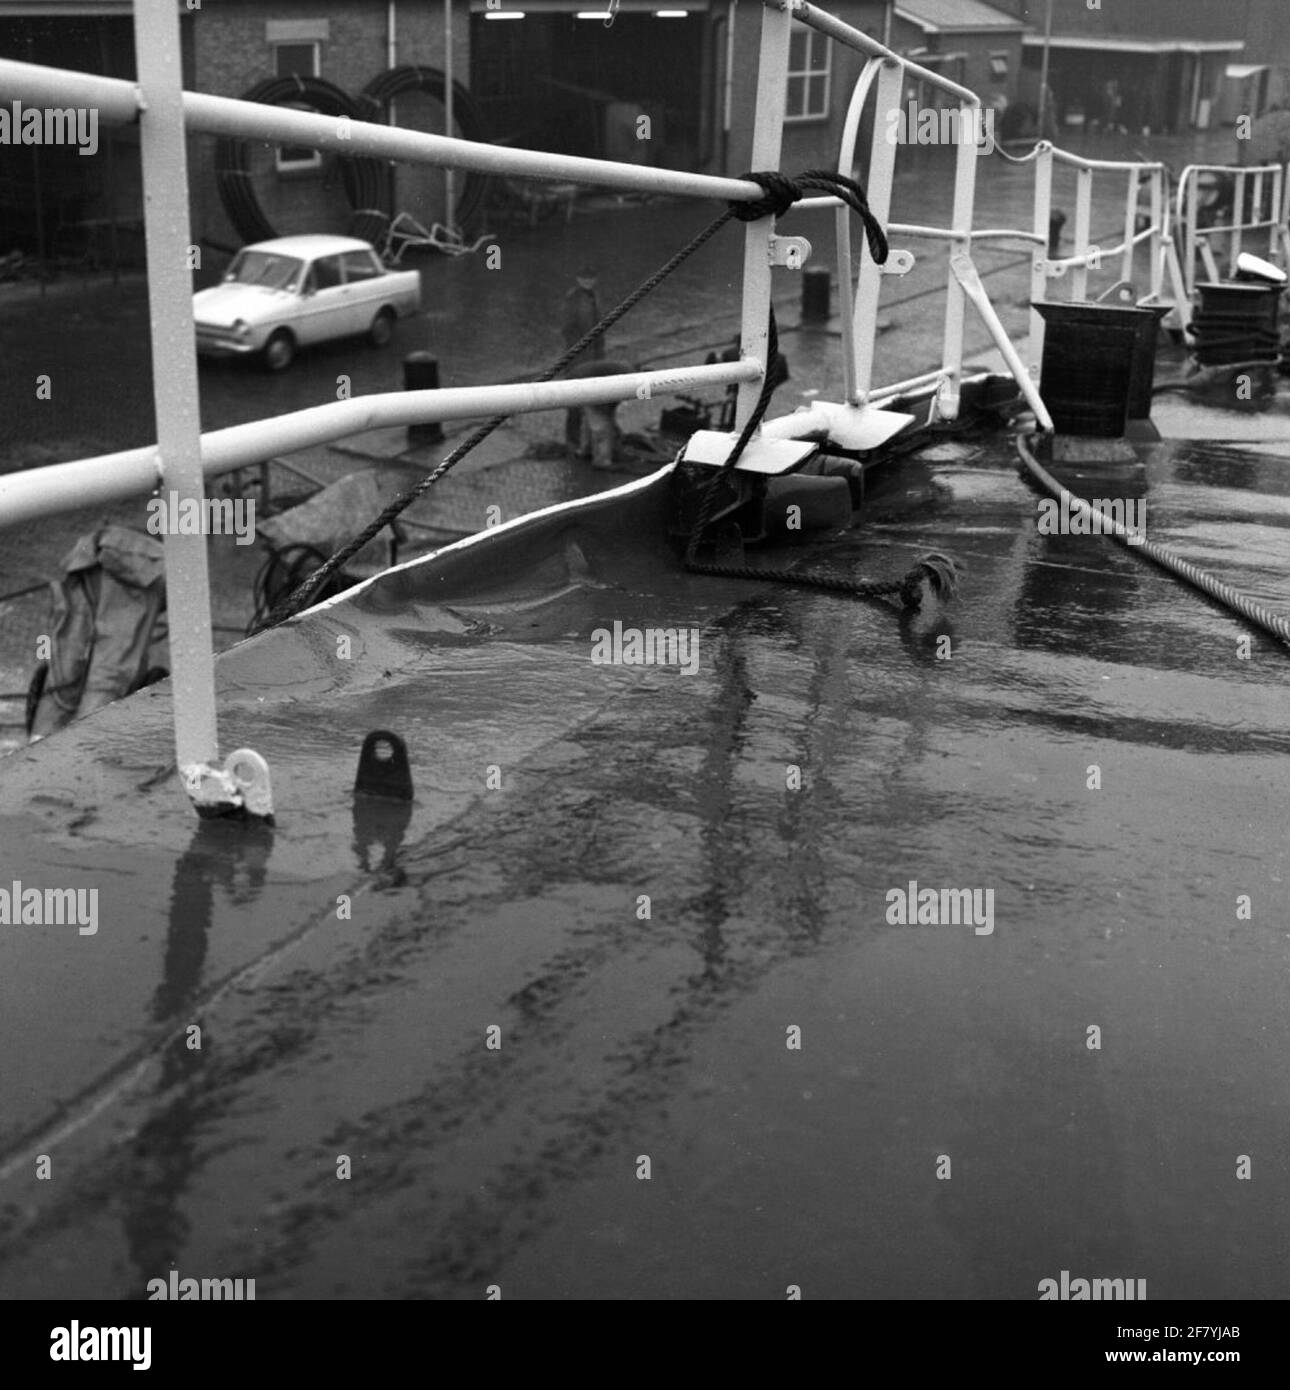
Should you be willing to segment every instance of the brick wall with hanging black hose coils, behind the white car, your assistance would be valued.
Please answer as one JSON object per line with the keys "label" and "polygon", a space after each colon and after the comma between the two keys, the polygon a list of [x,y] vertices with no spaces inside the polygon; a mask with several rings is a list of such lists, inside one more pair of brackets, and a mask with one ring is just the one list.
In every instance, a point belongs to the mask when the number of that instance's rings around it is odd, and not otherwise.
{"label": "brick wall with hanging black hose coils, behind the white car", "polygon": [[[214,96],[240,96],[274,75],[274,49],[267,36],[272,21],[325,21],[318,76],[357,97],[388,67],[386,0],[220,0],[188,11],[193,86]],[[396,65],[416,63],[443,67],[443,6],[399,0],[396,7]],[[453,7],[453,63],[457,81],[468,85],[470,15],[467,0]],[[409,95],[398,103],[398,121],[413,129],[439,133],[443,111],[438,101]],[[215,139],[196,136],[189,147],[193,228],[199,242],[236,247],[240,236],[229,222],[215,183]],[[336,161],[324,156],[318,172],[279,174],[274,152],[256,145],[247,152],[257,199],[281,234],[342,232],[350,208]],[[409,210],[427,227],[445,220],[443,175],[402,167],[396,175],[396,208]],[[460,175],[457,177],[460,190]]]}

